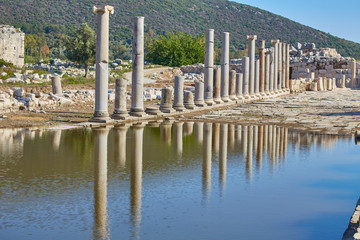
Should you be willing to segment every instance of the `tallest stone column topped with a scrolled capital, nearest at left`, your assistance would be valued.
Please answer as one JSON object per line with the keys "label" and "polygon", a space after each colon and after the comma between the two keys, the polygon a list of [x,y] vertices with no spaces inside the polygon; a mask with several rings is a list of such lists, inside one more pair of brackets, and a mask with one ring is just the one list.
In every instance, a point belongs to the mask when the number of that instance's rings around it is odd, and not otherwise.
{"label": "tallest stone column topped with a scrolled capital, nearest at left", "polygon": [[108,113],[108,80],[109,80],[109,14],[114,13],[112,6],[93,7],[97,14],[96,30],[96,80],[95,80],[95,113],[92,122],[107,122]]}

